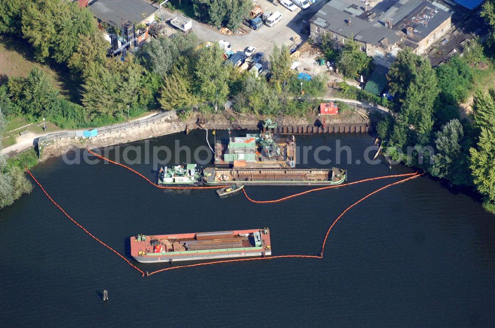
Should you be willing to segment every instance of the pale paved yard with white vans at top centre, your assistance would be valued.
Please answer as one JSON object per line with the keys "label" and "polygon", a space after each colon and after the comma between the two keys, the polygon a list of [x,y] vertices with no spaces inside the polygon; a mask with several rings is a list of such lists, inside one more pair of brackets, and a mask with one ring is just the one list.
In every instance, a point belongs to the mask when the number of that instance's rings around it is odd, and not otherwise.
{"label": "pale paved yard with white vans at top centre", "polygon": [[230,36],[221,34],[220,31],[209,25],[193,21],[193,32],[201,40],[229,41],[234,52],[238,50],[244,51],[244,49],[250,45],[255,46],[257,51],[264,52],[267,58],[275,43],[278,45],[286,44],[290,46],[294,43],[291,39],[295,36],[299,36],[302,41],[306,40],[309,35],[301,34],[302,21],[309,20],[309,18],[311,18],[325,3],[324,0],[318,0],[311,4],[307,9],[301,10],[300,8],[297,8],[295,11],[290,11],[278,3],[278,1],[277,5],[267,0],[257,0],[256,2],[264,12],[279,11],[282,14],[281,21],[273,27],[263,25],[255,31],[244,26],[245,29],[249,31],[247,34],[233,34]]}

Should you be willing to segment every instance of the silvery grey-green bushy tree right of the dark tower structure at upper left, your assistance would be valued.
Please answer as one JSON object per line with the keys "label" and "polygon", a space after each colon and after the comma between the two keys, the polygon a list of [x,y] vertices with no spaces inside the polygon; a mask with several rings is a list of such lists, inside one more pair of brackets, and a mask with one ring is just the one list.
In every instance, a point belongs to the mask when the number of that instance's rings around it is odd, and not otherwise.
{"label": "silvery grey-green bushy tree right of the dark tower structure at upper left", "polygon": [[139,52],[143,65],[151,72],[164,75],[170,71],[179,57],[179,49],[167,37],[151,39]]}

